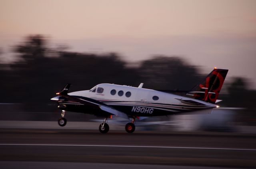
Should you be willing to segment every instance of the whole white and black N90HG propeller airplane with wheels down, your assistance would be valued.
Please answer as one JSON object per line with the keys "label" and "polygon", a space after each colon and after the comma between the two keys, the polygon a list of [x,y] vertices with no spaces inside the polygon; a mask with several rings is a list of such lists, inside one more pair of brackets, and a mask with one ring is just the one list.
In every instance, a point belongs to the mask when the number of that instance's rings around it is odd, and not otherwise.
{"label": "whole white and black N90HG propeller airplane with wheels down", "polygon": [[214,68],[206,78],[184,94],[173,94],[143,88],[143,83],[138,87],[116,84],[98,84],[90,90],[68,93],[71,84],[66,84],[62,91],[56,93],[57,97],[51,100],[58,103],[62,110],[58,120],[60,126],[65,126],[66,111],[89,113],[97,117],[104,117],[99,126],[100,133],[107,133],[109,125],[107,119],[112,115],[132,119],[127,123],[127,133],[135,131],[135,119],[144,119],[152,116],[202,114],[211,113],[220,89],[224,83],[228,70]]}

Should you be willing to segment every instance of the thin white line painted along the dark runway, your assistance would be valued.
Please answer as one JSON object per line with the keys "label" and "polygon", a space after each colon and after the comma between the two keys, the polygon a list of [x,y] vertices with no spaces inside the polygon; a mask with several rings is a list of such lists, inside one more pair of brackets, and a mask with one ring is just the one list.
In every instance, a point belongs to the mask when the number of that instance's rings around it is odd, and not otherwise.
{"label": "thin white line painted along the dark runway", "polygon": [[82,145],[82,144],[0,144],[16,146],[73,146],[73,147],[133,147],[133,148],[167,148],[167,149],[212,149],[212,150],[244,150],[256,151],[256,149],[236,149],[236,148],[214,148],[214,147],[170,147],[170,146],[144,146],[144,145]]}

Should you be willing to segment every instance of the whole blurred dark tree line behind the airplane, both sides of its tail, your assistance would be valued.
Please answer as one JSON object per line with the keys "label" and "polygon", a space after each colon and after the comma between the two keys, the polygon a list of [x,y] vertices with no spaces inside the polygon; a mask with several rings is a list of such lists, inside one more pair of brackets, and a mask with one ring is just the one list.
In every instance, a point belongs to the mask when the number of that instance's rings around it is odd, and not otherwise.
{"label": "whole blurred dark tree line behind the airplane, both sides of its tail", "polygon": [[[65,48],[48,47],[48,39],[32,35],[13,47],[17,61],[0,63],[0,103],[24,103],[47,109],[50,98],[66,84],[70,91],[90,89],[96,84],[110,83],[162,90],[189,90],[206,75],[197,66],[178,56],[155,56],[138,66],[129,66],[116,53],[93,54],[68,52]],[[243,78],[234,78],[227,84],[222,105],[232,107],[252,106],[255,90],[247,88]]]}

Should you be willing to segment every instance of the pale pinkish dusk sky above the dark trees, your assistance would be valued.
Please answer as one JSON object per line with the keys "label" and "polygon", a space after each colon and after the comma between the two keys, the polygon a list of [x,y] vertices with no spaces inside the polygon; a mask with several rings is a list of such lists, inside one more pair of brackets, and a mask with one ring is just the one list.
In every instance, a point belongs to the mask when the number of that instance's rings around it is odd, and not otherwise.
{"label": "pale pinkish dusk sky above the dark trees", "polygon": [[0,0],[2,62],[31,34],[127,62],[180,56],[202,73],[229,69],[256,89],[256,0]]}

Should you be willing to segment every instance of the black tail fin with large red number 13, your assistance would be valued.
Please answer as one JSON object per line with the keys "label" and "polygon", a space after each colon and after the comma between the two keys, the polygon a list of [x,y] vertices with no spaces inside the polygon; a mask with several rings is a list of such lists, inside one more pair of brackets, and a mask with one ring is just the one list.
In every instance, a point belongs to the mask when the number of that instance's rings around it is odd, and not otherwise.
{"label": "black tail fin with large red number 13", "polygon": [[194,99],[203,100],[214,104],[218,98],[227,73],[228,70],[226,69],[214,68],[214,70],[208,74],[204,81],[196,85],[186,95]]}

